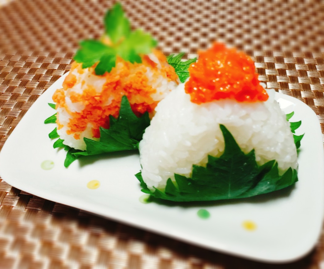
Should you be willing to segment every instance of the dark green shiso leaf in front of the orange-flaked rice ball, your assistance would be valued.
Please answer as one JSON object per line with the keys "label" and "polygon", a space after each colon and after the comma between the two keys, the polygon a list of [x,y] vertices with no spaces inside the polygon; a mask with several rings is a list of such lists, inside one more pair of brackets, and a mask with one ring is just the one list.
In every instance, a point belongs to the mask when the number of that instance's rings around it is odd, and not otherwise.
{"label": "dark green shiso leaf in front of the orange-flaked rice ball", "polygon": [[[64,150],[68,151],[64,162],[65,167],[68,167],[79,156],[96,155],[115,151],[138,150],[139,141],[142,140],[146,127],[150,125],[148,113],[145,112],[142,117],[138,118],[133,113],[127,97],[123,96],[121,99],[118,118],[114,118],[110,115],[109,119],[109,129],[100,127],[99,141],[84,138],[87,145],[86,151],[76,150],[66,146],[62,139],[58,139],[54,142],[54,148],[64,147]],[[49,137],[59,137],[56,128],[50,133]]]}

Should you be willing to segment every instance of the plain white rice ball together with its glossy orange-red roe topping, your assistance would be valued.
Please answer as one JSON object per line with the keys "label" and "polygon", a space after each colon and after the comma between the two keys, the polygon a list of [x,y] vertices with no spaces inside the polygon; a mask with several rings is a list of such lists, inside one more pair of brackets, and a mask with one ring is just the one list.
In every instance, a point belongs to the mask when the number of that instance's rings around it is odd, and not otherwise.
{"label": "plain white rice ball together with its glossy orange-red roe topping", "polygon": [[[203,186],[205,179],[193,175],[193,169],[195,166],[208,168],[210,156],[220,158],[225,152],[220,126],[225,126],[244,154],[254,152],[256,165],[275,160],[280,176],[297,169],[290,124],[275,100],[274,90],[265,90],[260,85],[249,56],[215,43],[199,53],[189,73],[187,82],[179,84],[156,106],[156,114],[140,141],[141,177],[147,186],[146,193],[155,193],[156,189],[164,192],[171,180],[176,187],[169,187],[169,192],[172,194],[183,187],[181,195],[185,199],[187,191],[194,189],[189,185]],[[212,178],[214,172],[209,175]],[[192,177],[192,180],[184,183],[181,177]],[[177,178],[182,184],[176,182]],[[215,177],[215,189],[217,182],[226,180],[227,177]],[[204,199],[198,192],[190,199]],[[170,199],[179,198],[171,196]]]}

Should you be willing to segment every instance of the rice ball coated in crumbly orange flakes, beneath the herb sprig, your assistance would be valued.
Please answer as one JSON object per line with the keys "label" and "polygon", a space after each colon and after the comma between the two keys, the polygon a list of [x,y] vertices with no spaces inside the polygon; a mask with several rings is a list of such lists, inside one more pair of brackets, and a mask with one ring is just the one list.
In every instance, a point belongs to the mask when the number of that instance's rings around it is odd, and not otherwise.
{"label": "rice ball coated in crumbly orange flakes, beneath the herb sprig", "polygon": [[109,116],[117,118],[122,96],[127,96],[136,116],[152,117],[159,101],[179,84],[174,68],[159,50],[141,55],[141,63],[116,58],[115,67],[103,75],[96,64],[82,68],[74,62],[63,88],[53,95],[57,110],[57,133],[64,144],[85,150],[84,138],[99,140],[99,127],[108,129]]}

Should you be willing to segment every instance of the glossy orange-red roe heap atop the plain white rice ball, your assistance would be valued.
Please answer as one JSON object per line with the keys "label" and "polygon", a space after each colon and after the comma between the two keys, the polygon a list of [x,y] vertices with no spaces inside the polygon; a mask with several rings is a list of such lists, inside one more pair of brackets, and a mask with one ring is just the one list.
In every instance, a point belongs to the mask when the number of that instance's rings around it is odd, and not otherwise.
{"label": "glossy orange-red roe heap atop the plain white rice ball", "polygon": [[259,84],[252,59],[222,43],[215,42],[209,50],[200,52],[189,73],[185,91],[196,104],[219,99],[258,102],[269,97]]}

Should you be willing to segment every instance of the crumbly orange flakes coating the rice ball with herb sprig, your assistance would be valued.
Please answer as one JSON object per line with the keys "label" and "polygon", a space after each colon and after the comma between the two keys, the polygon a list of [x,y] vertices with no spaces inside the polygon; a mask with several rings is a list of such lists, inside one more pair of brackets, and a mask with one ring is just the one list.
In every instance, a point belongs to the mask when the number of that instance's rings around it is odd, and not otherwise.
{"label": "crumbly orange flakes coating the rice ball with herb sprig", "polygon": [[[161,66],[158,66],[148,56],[142,57],[142,63],[130,63],[117,58],[116,66],[110,73],[106,72],[102,76],[98,76],[98,79],[105,79],[102,89],[99,90],[86,79],[78,81],[73,71],[77,70],[78,74],[83,74],[85,69],[82,69],[82,64],[74,62],[71,72],[64,80],[63,89],[58,89],[53,95],[56,109],[63,107],[70,115],[66,133],[73,134],[75,139],[80,139],[80,133],[85,131],[90,123],[93,137],[99,138],[99,127],[108,129],[109,116],[118,117],[123,95],[127,96],[135,115],[140,116],[146,111],[153,112],[158,102],[151,96],[156,93],[156,89],[149,83],[148,68],[153,73],[153,77],[162,75],[168,81],[178,81],[178,76],[174,68],[168,65],[166,57],[157,50],[154,51],[154,55]],[[95,75],[95,66],[88,69],[92,75]],[[84,87],[82,92],[74,91],[73,87],[77,83],[81,83]],[[72,112],[66,103],[66,98],[69,98],[72,103],[84,105],[84,108],[80,112]],[[57,124],[58,129],[63,128],[59,117]]]}

